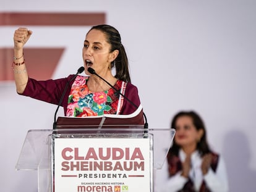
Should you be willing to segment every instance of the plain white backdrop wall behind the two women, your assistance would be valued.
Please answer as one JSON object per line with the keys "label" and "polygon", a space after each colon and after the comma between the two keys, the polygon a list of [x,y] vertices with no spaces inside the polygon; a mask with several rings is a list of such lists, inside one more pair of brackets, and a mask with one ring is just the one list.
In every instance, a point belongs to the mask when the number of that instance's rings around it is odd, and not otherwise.
{"label": "plain white backdrop wall behind the two women", "polygon": [[[230,191],[239,192],[256,189],[255,8],[253,0],[0,2],[0,12],[105,12],[121,33],[149,127],[169,128],[176,112],[197,111],[211,146],[224,156]],[[17,27],[0,27],[0,48],[12,47]],[[53,78],[83,64],[88,27],[30,30],[27,48],[66,47]],[[27,131],[51,128],[56,106],[17,95],[13,82],[0,90],[0,191],[36,191],[36,172],[17,172],[15,164]]]}

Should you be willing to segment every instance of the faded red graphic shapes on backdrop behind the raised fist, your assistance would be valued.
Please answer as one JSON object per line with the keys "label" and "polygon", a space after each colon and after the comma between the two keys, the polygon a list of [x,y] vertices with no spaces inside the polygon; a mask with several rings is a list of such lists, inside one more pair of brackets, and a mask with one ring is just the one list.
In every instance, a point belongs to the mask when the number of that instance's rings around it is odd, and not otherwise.
{"label": "faded red graphic shapes on backdrop behind the raised fist", "polygon": [[[105,13],[0,13],[0,27],[15,25],[30,26],[92,26],[105,23]],[[58,66],[64,47],[24,49],[26,52],[27,70],[30,77],[46,80],[52,77]],[[13,80],[11,64],[13,48],[0,48],[0,81]]]}

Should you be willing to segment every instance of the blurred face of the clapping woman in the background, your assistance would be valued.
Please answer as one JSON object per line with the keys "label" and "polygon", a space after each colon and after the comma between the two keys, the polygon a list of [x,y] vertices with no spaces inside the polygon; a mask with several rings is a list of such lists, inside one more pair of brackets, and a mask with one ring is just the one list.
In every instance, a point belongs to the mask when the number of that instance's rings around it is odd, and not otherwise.
{"label": "blurred face of the clapping woman in the background", "polygon": [[193,124],[193,120],[189,116],[181,116],[176,120],[176,134],[174,140],[182,148],[186,146],[197,146],[197,141],[202,136],[202,129],[197,130]]}

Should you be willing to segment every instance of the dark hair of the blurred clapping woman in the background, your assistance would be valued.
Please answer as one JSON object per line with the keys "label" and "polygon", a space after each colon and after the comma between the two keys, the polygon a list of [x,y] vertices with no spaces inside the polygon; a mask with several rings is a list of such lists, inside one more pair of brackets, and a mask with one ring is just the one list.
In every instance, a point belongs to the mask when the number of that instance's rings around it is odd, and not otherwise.
{"label": "dark hair of the blurred clapping woman in the background", "polygon": [[[192,122],[193,122],[193,124],[194,124],[194,126],[197,130],[201,130],[201,129],[203,130],[203,136],[200,139],[200,141],[198,141],[198,143],[197,143],[197,150],[200,153],[200,155],[203,156],[203,155],[207,154],[208,152],[211,152],[210,146],[208,145],[208,142],[207,142],[207,131],[206,131],[206,128],[205,128],[205,123],[203,123],[202,118],[196,112],[194,112],[194,111],[178,112],[173,117],[173,120],[171,122],[171,128],[176,129],[177,119],[179,117],[183,117],[183,116],[190,117],[192,119]],[[171,154],[174,154],[174,155],[178,156],[180,148],[181,147],[179,145],[177,145],[175,140],[173,140],[173,145],[169,149],[169,153],[171,152]]]}

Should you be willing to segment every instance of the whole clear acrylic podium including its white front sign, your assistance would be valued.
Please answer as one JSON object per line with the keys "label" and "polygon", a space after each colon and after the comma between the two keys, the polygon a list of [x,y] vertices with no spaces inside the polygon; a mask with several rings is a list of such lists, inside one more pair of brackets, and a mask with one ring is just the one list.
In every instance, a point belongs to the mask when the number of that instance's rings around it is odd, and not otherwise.
{"label": "whole clear acrylic podium including its white front sign", "polygon": [[38,192],[153,192],[174,134],[137,125],[29,130],[16,170],[37,170]]}

